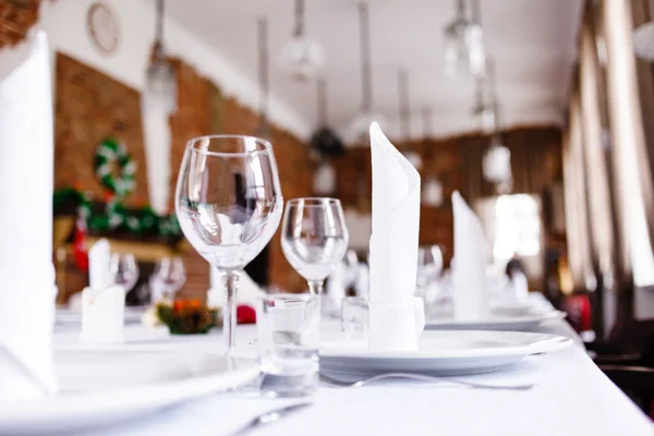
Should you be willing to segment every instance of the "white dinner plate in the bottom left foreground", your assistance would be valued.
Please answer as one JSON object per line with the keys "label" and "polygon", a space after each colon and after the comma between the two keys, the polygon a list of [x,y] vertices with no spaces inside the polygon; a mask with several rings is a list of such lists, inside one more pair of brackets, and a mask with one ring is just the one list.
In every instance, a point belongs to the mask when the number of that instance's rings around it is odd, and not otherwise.
{"label": "white dinner plate in the bottom left foreground", "polygon": [[258,376],[253,360],[135,346],[70,346],[55,352],[59,393],[0,403],[1,435],[70,434],[154,412]]}

